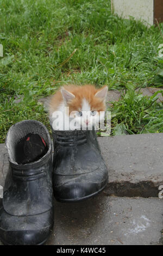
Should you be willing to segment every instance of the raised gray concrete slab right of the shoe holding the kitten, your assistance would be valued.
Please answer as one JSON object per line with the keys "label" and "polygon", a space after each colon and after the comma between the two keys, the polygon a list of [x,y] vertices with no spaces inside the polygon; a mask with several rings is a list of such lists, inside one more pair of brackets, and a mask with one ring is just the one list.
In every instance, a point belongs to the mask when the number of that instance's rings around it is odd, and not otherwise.
{"label": "raised gray concrete slab right of the shoe holding the kitten", "polygon": [[163,133],[99,138],[109,170],[109,196],[158,197],[163,185]]}

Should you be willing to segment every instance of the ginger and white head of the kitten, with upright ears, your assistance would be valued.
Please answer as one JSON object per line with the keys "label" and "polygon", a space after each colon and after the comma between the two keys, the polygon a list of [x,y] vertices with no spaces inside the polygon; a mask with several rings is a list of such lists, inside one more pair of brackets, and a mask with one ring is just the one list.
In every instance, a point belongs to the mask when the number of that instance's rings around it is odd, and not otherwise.
{"label": "ginger and white head of the kitten, with upright ears", "polygon": [[91,85],[61,88],[65,106],[69,107],[70,118],[73,118],[77,129],[91,130],[92,126],[96,127],[99,121],[104,120],[107,92],[106,86],[101,89]]}

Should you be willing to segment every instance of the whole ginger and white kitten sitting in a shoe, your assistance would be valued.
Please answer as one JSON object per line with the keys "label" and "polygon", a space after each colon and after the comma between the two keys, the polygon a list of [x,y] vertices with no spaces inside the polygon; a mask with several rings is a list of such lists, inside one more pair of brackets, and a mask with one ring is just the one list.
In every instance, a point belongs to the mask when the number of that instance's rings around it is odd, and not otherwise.
{"label": "whole ginger and white kitten sitting in a shoe", "polygon": [[54,130],[92,130],[104,121],[108,87],[61,87],[49,100],[49,119]]}

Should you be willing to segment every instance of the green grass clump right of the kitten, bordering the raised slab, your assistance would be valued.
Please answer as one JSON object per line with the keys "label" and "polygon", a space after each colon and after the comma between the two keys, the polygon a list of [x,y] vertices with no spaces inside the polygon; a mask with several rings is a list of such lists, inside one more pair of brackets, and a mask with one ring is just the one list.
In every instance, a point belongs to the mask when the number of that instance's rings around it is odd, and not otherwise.
{"label": "green grass clump right of the kitten, bordering the raised slab", "polygon": [[163,96],[163,90],[148,97],[135,92],[130,84],[126,87],[122,100],[112,102],[112,135],[163,132],[163,106],[156,102],[158,93]]}

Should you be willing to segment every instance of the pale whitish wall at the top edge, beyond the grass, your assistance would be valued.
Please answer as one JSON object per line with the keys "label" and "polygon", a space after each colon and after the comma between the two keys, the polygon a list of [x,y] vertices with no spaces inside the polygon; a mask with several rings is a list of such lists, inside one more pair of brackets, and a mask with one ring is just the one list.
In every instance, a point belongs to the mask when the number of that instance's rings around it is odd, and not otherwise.
{"label": "pale whitish wall at the top edge, beyond the grass", "polygon": [[153,25],[154,0],[111,0],[116,14],[127,19],[129,16],[136,20],[144,20]]}

